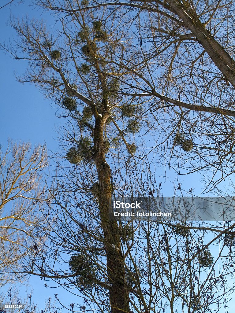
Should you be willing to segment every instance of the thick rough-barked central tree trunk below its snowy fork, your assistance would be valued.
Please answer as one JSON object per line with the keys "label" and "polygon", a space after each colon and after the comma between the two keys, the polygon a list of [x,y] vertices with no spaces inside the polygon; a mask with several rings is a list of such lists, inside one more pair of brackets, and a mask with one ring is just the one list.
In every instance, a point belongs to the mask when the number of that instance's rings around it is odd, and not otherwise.
{"label": "thick rough-barked central tree trunk below its snowy fork", "polygon": [[129,312],[129,292],[125,281],[125,266],[121,254],[120,231],[115,221],[109,219],[109,201],[112,195],[111,170],[105,160],[103,141],[106,118],[97,117],[94,129],[95,163],[99,179],[99,210],[107,257],[107,275],[112,313]]}

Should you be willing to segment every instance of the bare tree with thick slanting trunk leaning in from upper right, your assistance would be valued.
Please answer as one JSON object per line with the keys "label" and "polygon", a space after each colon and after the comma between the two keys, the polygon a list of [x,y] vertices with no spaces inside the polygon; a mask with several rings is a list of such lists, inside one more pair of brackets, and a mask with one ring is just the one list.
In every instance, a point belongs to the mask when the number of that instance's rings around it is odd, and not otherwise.
{"label": "bare tree with thick slanting trunk leaning in from upper right", "polygon": [[[38,4],[66,16],[67,21],[69,16],[72,19],[88,11],[98,19],[115,20],[103,27],[110,33],[110,40],[111,34],[119,35],[125,49],[118,46],[112,52],[115,70],[106,73],[110,77],[115,73],[122,86],[119,93],[129,103],[133,103],[133,97],[136,102],[145,103],[146,115],[155,120],[156,153],[162,156],[161,163],[166,164],[168,155],[168,162],[180,173],[212,171],[207,177],[212,188],[234,172],[231,1]],[[63,31],[70,35],[70,40],[76,35],[74,30]],[[76,59],[77,54],[73,57]],[[182,145],[174,142],[177,133],[193,144],[186,163]]]}

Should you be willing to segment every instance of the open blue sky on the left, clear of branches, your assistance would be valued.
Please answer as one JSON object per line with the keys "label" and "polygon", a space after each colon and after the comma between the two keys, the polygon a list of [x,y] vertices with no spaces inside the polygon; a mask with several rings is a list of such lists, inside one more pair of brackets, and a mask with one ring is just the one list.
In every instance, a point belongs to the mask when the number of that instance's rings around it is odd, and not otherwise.
{"label": "open blue sky on the left, clear of branches", "polygon": [[[39,12],[33,7],[24,4],[6,7],[0,10],[0,40],[9,41],[13,36],[13,29],[6,25],[9,15],[22,16],[26,13],[30,17],[39,16]],[[49,21],[50,25],[50,21]],[[32,146],[46,143],[49,155],[50,151],[59,149],[56,140],[56,126],[60,119],[56,117],[57,108],[44,96],[40,94],[37,87],[32,84],[19,84],[15,78],[16,74],[25,72],[26,63],[16,61],[0,50],[1,59],[1,105],[0,105],[0,144],[7,145],[8,137],[13,141],[29,141]],[[74,296],[66,294],[63,289],[49,289],[43,286],[39,277],[31,277],[27,280],[28,287],[19,286],[19,296],[26,295],[26,289],[33,289],[33,300],[39,304],[39,309],[44,308],[44,302],[49,296],[54,298],[57,293],[66,304],[78,301]],[[33,287],[32,287],[33,286]],[[55,284],[54,284],[55,286]]]}

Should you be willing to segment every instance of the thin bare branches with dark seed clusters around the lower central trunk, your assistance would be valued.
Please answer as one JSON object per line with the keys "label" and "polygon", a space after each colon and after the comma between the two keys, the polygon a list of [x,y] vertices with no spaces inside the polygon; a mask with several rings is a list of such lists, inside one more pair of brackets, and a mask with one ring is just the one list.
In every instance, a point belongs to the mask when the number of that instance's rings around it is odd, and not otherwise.
{"label": "thin bare branches with dark seed clusters around the lower central trunk", "polygon": [[[115,195],[149,197],[154,189],[160,194],[153,174],[146,167],[143,170],[113,171]],[[43,277],[47,286],[55,280],[78,297],[71,297],[69,307],[57,298],[60,305],[56,307],[61,310],[112,311],[107,299],[115,280],[107,271],[96,173],[78,167],[63,168],[62,173],[52,188],[49,216],[55,223],[53,231],[47,232],[47,252],[39,251],[31,274]],[[133,178],[136,174],[138,181]],[[233,228],[229,222],[213,226],[183,221],[119,222],[119,246],[113,244],[112,251],[115,258],[124,260],[124,274],[118,282],[125,283],[128,310],[221,311],[233,292]],[[123,294],[117,297],[122,299]]]}

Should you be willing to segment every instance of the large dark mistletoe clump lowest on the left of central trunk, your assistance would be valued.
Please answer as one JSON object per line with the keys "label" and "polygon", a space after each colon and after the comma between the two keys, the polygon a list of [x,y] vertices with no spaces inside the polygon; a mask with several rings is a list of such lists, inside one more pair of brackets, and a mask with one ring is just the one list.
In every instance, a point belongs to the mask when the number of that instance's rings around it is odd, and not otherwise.
{"label": "large dark mistletoe clump lowest on the left of central trunk", "polygon": [[69,261],[70,269],[76,276],[76,283],[79,287],[92,290],[95,280],[95,269],[84,254],[73,255]]}

